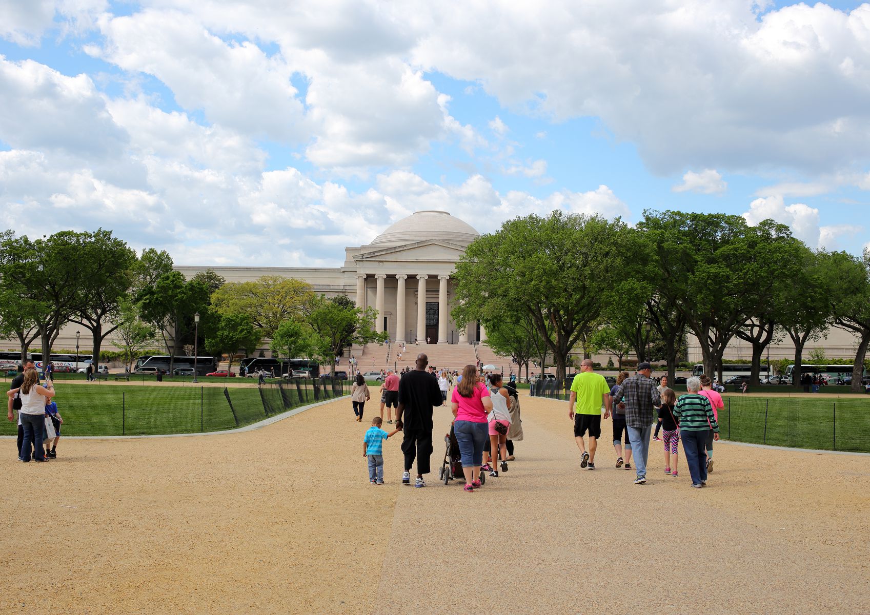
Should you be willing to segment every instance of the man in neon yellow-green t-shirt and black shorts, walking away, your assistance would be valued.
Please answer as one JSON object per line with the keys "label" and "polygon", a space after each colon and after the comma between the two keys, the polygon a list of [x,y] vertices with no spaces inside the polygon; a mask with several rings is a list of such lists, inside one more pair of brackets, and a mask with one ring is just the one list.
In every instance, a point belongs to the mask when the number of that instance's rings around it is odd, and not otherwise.
{"label": "man in neon yellow-green t-shirt and black shorts, walking away", "polygon": [[[580,467],[595,469],[595,450],[601,437],[601,406],[604,418],[610,418],[610,387],[601,374],[592,371],[592,359],[585,358],[580,364],[580,373],[571,383],[571,397],[568,399],[568,418],[574,422],[574,439],[580,450]],[[583,437],[589,431],[589,452]]]}

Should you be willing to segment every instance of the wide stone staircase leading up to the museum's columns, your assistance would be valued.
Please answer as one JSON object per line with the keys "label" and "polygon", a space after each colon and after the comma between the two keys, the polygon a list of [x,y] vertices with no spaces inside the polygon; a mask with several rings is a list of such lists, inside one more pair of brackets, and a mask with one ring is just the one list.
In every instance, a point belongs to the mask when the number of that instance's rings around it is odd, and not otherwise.
{"label": "wide stone staircase leading up to the museum's columns", "polygon": [[[361,371],[380,371],[398,369],[403,367],[413,368],[414,360],[420,352],[425,352],[429,357],[429,364],[438,369],[462,371],[465,365],[475,364],[480,358],[481,365],[495,365],[495,371],[504,370],[510,373],[515,367],[510,357],[501,357],[492,351],[486,342],[477,345],[477,355],[472,344],[405,344],[405,352],[402,353],[401,345],[391,344],[388,356],[388,344],[365,344],[365,346],[353,346],[351,354],[358,361]],[[402,353],[401,358],[398,354]],[[347,368],[347,361],[342,358],[342,367]]]}

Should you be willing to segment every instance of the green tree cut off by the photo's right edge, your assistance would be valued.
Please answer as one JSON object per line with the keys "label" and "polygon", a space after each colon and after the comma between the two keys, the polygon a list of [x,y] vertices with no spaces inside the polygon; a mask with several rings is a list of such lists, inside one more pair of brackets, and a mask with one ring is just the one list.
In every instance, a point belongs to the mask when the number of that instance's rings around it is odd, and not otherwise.
{"label": "green tree cut off by the photo's right edge", "polygon": [[847,252],[833,252],[825,259],[830,286],[833,324],[859,338],[852,368],[852,391],[860,392],[867,346],[870,345],[870,251],[863,258]]}

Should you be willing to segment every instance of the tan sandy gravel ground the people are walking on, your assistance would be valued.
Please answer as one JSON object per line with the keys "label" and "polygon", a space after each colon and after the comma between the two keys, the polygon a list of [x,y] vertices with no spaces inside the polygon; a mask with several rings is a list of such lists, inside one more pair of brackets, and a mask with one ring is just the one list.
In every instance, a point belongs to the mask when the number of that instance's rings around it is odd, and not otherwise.
{"label": "tan sandy gravel ground the people are walking on", "polygon": [[43,465],[0,439],[0,613],[870,612],[870,456],[721,444],[694,490],[656,446],[632,485],[609,422],[581,471],[566,404],[523,403],[517,461],[472,494],[400,486],[399,437],[369,485],[346,400],[240,434],[62,440]]}

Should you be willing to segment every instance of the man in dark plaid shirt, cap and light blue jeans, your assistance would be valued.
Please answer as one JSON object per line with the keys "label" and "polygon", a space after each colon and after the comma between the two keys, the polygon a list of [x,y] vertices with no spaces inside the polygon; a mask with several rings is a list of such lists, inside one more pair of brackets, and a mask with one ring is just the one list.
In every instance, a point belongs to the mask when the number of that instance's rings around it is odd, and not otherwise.
{"label": "man in dark plaid shirt, cap and light blue jeans", "polygon": [[[650,451],[650,431],[655,422],[654,408],[661,405],[659,391],[650,378],[653,366],[644,362],[638,372],[626,378],[613,395],[613,404],[626,405],[626,429],[634,452],[634,467],[637,471],[635,485],[646,483],[646,460]],[[621,407],[621,406],[620,406]]]}

